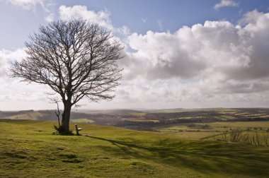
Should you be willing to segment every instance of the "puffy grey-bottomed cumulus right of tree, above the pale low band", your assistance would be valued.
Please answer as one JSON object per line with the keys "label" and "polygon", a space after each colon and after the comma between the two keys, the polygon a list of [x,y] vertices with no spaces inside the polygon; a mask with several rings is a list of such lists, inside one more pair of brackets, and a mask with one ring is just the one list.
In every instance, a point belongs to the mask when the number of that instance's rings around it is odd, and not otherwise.
{"label": "puffy grey-bottomed cumulus right of tree, above the pale low band", "polygon": [[135,52],[127,55],[126,63],[131,68],[140,64],[142,72],[133,74],[130,69],[129,74],[158,79],[220,73],[223,79],[238,81],[268,77],[269,13],[257,16],[253,11],[247,16],[255,20],[247,18],[245,26],[205,21],[174,33],[133,33],[128,45]]}

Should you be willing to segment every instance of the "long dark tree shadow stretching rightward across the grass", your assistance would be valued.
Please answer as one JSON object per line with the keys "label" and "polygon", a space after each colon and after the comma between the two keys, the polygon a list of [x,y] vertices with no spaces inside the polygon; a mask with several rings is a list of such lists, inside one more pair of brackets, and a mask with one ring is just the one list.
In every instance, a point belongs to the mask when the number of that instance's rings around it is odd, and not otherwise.
{"label": "long dark tree shadow stretching rightward across the grass", "polygon": [[203,174],[240,174],[267,177],[269,149],[213,141],[178,141],[160,139],[141,141],[133,138],[108,141],[113,146],[99,146],[114,155],[131,156],[161,162],[176,168],[185,167]]}

